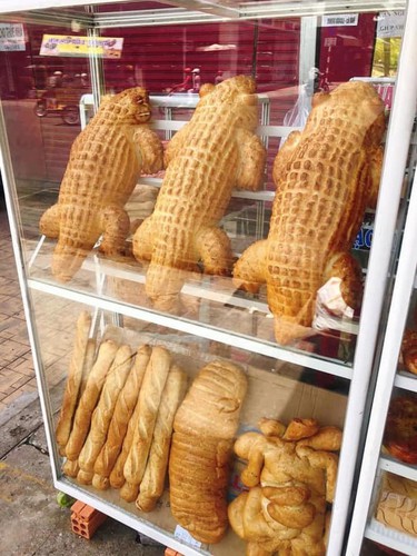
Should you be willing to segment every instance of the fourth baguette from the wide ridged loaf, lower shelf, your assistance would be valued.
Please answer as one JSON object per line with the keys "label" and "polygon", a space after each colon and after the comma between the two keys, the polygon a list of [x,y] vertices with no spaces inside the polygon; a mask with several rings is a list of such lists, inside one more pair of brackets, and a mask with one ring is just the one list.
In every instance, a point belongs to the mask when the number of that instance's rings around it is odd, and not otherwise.
{"label": "fourth baguette from the wide ridged loaf, lower shelf", "polygon": [[117,399],[131,367],[131,355],[129,346],[120,346],[106,377],[99,403],[92,414],[90,431],[78,457],[78,465],[83,471],[93,471],[97,456],[106,443]]}

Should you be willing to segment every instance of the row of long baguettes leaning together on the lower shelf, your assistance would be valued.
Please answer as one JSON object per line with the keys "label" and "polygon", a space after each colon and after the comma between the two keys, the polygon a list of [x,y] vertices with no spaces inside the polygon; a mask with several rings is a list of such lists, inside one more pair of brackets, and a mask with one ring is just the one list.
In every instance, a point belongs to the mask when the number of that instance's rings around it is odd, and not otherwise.
{"label": "row of long baguettes leaning together on the lower shelf", "polygon": [[137,353],[111,339],[96,346],[90,326],[81,312],[56,429],[63,473],[99,489],[120,488],[150,512],[163,493],[187,376],[159,346]]}

